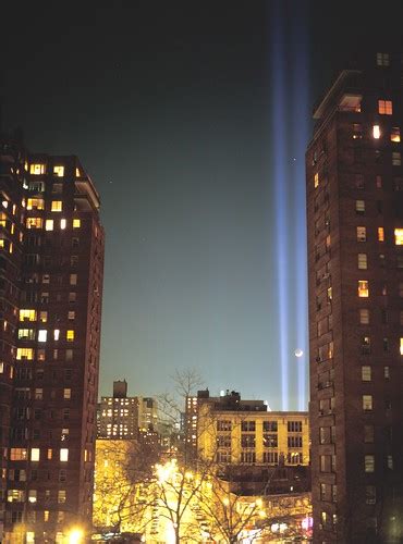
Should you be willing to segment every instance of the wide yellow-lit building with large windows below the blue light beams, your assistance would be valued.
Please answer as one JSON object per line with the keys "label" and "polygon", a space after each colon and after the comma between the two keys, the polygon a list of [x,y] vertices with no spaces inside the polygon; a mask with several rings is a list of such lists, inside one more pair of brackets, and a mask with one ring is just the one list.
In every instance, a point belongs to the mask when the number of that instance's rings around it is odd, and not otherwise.
{"label": "wide yellow-lit building with large windows below the blue light beams", "polygon": [[307,412],[267,411],[262,400],[241,400],[232,392],[199,406],[197,455],[219,465],[306,466]]}

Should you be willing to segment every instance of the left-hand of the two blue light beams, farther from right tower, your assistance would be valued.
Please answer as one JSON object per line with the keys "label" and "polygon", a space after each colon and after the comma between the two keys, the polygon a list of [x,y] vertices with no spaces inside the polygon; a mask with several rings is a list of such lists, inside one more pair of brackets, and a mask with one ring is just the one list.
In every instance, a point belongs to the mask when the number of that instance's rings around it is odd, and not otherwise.
{"label": "left-hand of the two blue light beams, farther from right tower", "polygon": [[273,177],[276,202],[276,257],[278,276],[278,316],[280,326],[280,364],[281,364],[281,406],[289,408],[289,342],[288,342],[288,222],[286,200],[288,180],[285,169],[285,66],[283,65],[283,28],[279,13],[279,2],[274,3],[272,18],[272,58],[271,77],[273,92],[271,98],[271,119],[273,141]]}

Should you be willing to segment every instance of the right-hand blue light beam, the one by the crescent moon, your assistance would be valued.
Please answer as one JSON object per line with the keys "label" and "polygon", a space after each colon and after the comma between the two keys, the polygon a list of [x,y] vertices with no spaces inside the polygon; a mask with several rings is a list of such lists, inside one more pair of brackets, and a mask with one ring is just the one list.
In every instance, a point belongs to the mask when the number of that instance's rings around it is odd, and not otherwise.
{"label": "right-hand blue light beam, the one by the crescent moon", "polygon": [[294,206],[294,239],[295,244],[295,330],[296,345],[305,354],[297,363],[298,410],[307,409],[307,248],[306,248],[306,194],[305,194],[305,149],[308,141],[308,65],[307,65],[307,4],[297,2],[293,16],[293,54],[295,61],[292,81],[292,116],[294,120],[293,149],[295,149],[295,169],[293,171]]}

